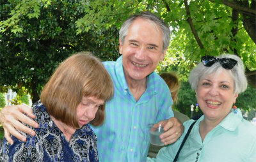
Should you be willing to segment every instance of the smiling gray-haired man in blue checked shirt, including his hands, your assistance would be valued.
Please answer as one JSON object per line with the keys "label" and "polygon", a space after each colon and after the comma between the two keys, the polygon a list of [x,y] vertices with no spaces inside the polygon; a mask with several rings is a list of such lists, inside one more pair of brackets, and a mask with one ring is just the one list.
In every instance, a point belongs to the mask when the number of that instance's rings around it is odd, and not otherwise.
{"label": "smiling gray-haired man in blue checked shirt, including his hands", "polygon": [[[163,61],[169,42],[169,27],[148,11],[128,18],[122,25],[119,33],[122,56],[116,62],[103,63],[111,75],[115,92],[106,103],[104,124],[93,127],[98,138],[100,161],[146,161],[150,123],[168,119],[164,126],[166,132],[161,135],[164,145],[172,144],[183,133],[182,124],[173,117],[170,90],[154,72],[159,62]],[[30,113],[28,108],[19,108]],[[8,108],[9,111],[17,109]],[[2,110],[2,119],[8,117],[3,113],[8,110]],[[15,118],[24,121],[22,115]],[[22,136],[11,129],[13,126],[33,133],[31,129],[15,124],[16,121],[4,125],[10,125],[8,131],[17,138],[22,139]],[[28,124],[35,126],[33,121],[28,121]]]}

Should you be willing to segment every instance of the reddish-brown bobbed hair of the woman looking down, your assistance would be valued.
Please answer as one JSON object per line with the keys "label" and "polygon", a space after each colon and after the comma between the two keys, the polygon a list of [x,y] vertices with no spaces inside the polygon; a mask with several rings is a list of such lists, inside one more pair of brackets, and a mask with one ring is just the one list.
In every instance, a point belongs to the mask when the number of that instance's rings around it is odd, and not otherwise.
{"label": "reddish-brown bobbed hair of the woman looking down", "polygon": [[[104,101],[113,96],[113,84],[100,59],[90,52],[79,52],[68,57],[44,86],[40,100],[49,115],[72,128],[79,128],[77,106],[83,97]],[[104,121],[105,103],[90,122],[99,126]]]}

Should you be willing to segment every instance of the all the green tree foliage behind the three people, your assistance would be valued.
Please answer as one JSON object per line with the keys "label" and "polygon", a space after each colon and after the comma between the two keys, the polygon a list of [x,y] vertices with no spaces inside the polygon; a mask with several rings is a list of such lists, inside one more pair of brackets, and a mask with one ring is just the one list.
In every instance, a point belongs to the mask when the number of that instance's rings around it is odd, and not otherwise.
{"label": "all the green tree foliage behind the three people", "polygon": [[[251,5],[252,1],[248,3]],[[183,0],[3,0],[0,1],[3,32],[0,91],[26,87],[32,98],[36,95],[38,98],[56,66],[81,50],[92,51],[103,61],[115,61],[119,56],[118,29],[122,22],[129,15],[146,10],[172,27],[170,47],[157,72],[173,66],[186,82],[189,71],[202,55],[234,54],[235,50],[248,71],[256,70],[256,45],[244,29],[243,14],[232,21],[233,9],[222,1],[189,1],[190,15],[187,15]],[[191,31],[189,16],[203,48]],[[232,29],[236,27],[237,34],[233,35]],[[188,105],[191,103],[182,107],[189,108]]]}

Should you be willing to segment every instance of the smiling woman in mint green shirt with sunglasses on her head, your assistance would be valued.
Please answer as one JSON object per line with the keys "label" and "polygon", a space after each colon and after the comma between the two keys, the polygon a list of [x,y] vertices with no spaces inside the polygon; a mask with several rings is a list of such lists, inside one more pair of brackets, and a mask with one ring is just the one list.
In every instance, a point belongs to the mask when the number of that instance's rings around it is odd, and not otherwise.
{"label": "smiling woman in mint green shirt with sunglasses on her head", "polygon": [[147,161],[256,161],[256,126],[233,107],[247,87],[241,59],[230,54],[202,57],[189,82],[204,115],[184,122],[179,140]]}

